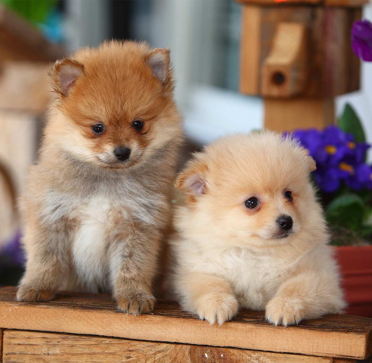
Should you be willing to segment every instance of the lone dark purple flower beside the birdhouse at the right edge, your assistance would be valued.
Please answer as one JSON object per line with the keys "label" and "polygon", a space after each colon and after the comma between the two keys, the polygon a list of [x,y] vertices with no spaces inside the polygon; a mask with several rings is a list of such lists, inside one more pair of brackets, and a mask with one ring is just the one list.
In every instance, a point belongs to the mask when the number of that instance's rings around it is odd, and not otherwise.
{"label": "lone dark purple flower beside the birdhouse at the right edge", "polygon": [[372,61],[372,23],[358,20],[351,30],[351,44],[356,56],[363,61]]}

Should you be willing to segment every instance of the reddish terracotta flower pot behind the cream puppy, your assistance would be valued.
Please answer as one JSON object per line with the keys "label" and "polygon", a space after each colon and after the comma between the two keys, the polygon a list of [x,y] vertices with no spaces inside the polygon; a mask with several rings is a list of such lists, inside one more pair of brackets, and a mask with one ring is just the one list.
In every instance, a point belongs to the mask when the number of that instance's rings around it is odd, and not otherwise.
{"label": "reddish terracotta flower pot behind the cream puppy", "polygon": [[372,317],[372,245],[335,247],[343,276],[346,314]]}

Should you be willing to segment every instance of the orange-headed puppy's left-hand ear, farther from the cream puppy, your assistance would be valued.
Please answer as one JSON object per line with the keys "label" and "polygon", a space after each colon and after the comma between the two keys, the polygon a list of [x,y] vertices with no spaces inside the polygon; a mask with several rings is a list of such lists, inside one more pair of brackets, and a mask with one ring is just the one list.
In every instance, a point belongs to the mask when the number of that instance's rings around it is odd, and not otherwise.
{"label": "orange-headed puppy's left-hand ear, farther from the cream puppy", "polygon": [[54,91],[61,96],[68,96],[78,77],[83,76],[84,66],[71,59],[55,62],[49,70]]}

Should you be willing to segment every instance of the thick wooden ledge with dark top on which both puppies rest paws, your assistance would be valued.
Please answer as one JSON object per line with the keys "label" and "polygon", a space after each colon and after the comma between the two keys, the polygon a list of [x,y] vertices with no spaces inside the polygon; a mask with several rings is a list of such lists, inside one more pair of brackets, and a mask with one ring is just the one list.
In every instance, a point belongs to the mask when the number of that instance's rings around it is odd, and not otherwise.
{"label": "thick wooden ledge with dark top on which both puppies rest paws", "polygon": [[176,303],[159,301],[153,313],[134,317],[118,312],[108,295],[61,293],[49,302],[26,303],[17,302],[15,293],[15,287],[0,289],[0,328],[353,359],[372,353],[371,318],[327,315],[285,328],[266,323],[263,312],[243,310],[218,327],[181,311]]}

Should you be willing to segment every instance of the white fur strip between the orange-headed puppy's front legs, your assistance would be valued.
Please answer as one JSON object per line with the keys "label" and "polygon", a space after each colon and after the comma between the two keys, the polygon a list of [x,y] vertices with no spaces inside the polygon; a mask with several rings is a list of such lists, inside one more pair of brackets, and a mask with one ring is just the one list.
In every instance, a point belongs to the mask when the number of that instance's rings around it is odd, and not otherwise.
{"label": "white fur strip between the orange-headed puppy's front legs", "polygon": [[74,237],[72,254],[76,273],[91,292],[107,280],[108,219],[112,203],[104,197],[93,197],[77,210],[81,224]]}

